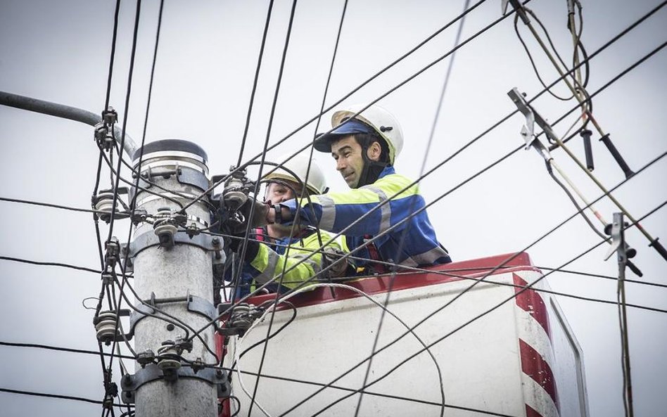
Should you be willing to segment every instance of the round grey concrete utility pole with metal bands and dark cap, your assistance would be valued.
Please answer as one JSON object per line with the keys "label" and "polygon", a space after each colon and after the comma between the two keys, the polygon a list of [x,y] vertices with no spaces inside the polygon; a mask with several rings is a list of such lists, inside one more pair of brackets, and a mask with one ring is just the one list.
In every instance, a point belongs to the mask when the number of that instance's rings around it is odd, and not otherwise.
{"label": "round grey concrete utility pole with metal bands and dark cap", "polygon": [[[141,179],[169,191],[140,181],[140,186],[158,195],[146,191],[136,195],[136,210],[155,221],[140,223],[125,249],[125,255],[133,259],[134,287],[144,302],[198,330],[217,315],[212,303],[211,251],[222,248],[211,236],[196,232],[189,236],[184,230],[210,226],[208,198],[188,207],[186,216],[179,213],[182,206],[174,200],[185,205],[189,200],[184,195],[195,198],[208,188],[207,156],[196,144],[177,139],[144,146],[141,167],[140,153],[134,154],[134,165]],[[215,352],[213,326],[201,333],[203,342],[194,338],[189,344],[186,338],[192,331],[186,334],[176,320],[151,307],[141,309],[170,321],[132,314],[134,348],[140,359],[134,375],[122,379],[123,401],[134,402],[137,417],[217,416],[217,398],[229,394],[226,375],[212,368],[186,366],[216,362],[203,345]]]}

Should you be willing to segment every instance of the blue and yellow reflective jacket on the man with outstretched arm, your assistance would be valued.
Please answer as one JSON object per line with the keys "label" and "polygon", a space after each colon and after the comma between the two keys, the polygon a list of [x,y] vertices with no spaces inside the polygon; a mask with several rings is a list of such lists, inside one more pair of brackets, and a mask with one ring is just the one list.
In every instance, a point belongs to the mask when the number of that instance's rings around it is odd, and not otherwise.
{"label": "blue and yellow reflective jacket on the man with outstretched arm", "polygon": [[[352,256],[367,259],[374,259],[368,247],[357,252],[355,248],[362,245],[369,237],[377,236],[391,226],[400,224],[374,240],[379,260],[405,267],[425,267],[452,262],[443,245],[438,243],[426,210],[414,214],[426,203],[419,194],[417,185],[410,186],[412,182],[407,177],[396,174],[393,167],[386,167],[373,184],[343,193],[311,195],[310,202],[306,199],[300,200],[301,208],[298,210],[300,224],[310,224],[339,233],[356,222],[345,231],[347,245],[350,252],[354,252]],[[404,189],[405,191],[402,191]],[[402,191],[400,194],[391,198],[400,191]],[[376,208],[389,198],[391,200],[388,203]],[[288,200],[281,205],[290,209],[292,217],[296,216],[296,200]],[[373,212],[362,219],[362,216],[371,210]],[[402,222],[403,220],[405,222]],[[402,239],[404,240],[401,243]]]}

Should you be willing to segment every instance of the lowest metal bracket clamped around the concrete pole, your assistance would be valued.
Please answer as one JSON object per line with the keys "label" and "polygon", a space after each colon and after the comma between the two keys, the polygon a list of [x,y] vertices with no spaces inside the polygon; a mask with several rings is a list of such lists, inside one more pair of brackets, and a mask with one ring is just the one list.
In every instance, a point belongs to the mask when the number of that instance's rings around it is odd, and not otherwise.
{"label": "lowest metal bracket clamped around the concrete pole", "polygon": [[[213,368],[203,368],[198,371],[194,371],[193,368],[181,367],[177,371],[178,378],[196,378],[199,380],[204,380],[211,385],[217,387],[217,397],[218,398],[227,398],[231,393],[229,387],[229,380],[227,379],[227,372],[222,371],[221,369]],[[158,368],[156,364],[149,364],[145,368],[139,369],[134,375],[129,373],[125,374],[120,381],[120,387],[122,388],[122,402],[125,404],[134,404],[134,397],[136,390],[146,383],[150,383],[154,380],[164,380],[165,376],[163,371]],[[168,383],[165,380],[165,383]],[[177,380],[173,383],[177,383]]]}

